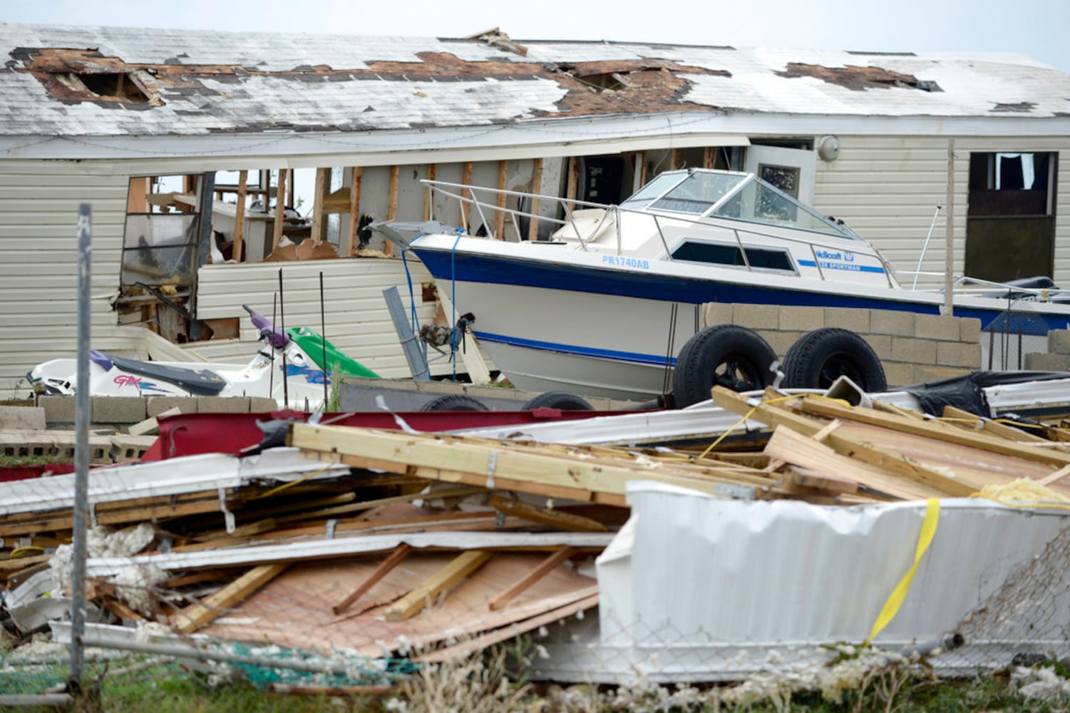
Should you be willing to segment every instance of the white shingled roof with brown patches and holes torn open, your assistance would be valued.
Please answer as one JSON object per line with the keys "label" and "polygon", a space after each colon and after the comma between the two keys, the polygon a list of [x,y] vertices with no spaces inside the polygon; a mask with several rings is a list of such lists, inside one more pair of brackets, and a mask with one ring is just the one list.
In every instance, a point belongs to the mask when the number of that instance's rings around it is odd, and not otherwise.
{"label": "white shingled roof with brown patches and holes torn open", "polygon": [[[1070,116],[1019,55],[258,34],[0,24],[0,136],[188,136],[704,111]],[[118,84],[117,84],[118,82]]]}

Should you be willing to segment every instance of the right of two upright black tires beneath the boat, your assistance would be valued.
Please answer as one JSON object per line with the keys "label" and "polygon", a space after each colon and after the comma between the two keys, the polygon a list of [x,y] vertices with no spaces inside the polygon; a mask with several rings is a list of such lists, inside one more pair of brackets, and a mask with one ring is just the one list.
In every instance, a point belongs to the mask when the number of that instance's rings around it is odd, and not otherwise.
{"label": "right of two upright black tires beneath the boat", "polygon": [[832,327],[799,337],[784,354],[783,371],[788,388],[828,389],[841,376],[866,392],[888,388],[881,360],[866,339]]}

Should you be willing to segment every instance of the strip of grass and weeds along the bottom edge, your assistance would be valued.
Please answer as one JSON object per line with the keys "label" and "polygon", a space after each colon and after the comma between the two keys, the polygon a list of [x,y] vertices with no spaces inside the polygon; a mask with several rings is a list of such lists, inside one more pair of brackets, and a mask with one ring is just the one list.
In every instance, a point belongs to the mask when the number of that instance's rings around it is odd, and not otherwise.
{"label": "strip of grass and weeds along the bottom edge", "polygon": [[[923,668],[897,668],[868,677],[859,689],[843,692],[840,700],[830,701],[820,692],[796,693],[786,700],[746,700],[724,702],[730,688],[689,686],[559,686],[554,684],[516,684],[506,680],[504,650],[489,652],[456,663],[422,669],[406,680],[395,696],[353,697],[330,695],[280,695],[223,677],[211,670],[186,667],[175,662],[146,657],[124,657],[110,664],[87,665],[87,692],[76,711],[95,713],[325,713],[341,711],[404,711],[430,713],[458,711],[493,713],[495,711],[747,711],[748,713],[861,713],[896,711],[915,713],[1045,713],[1066,711],[1070,694],[1054,701],[1023,700],[1014,695],[1009,677],[978,677],[969,680],[937,681]],[[198,665],[200,667],[200,665]],[[9,669],[10,670],[10,669]],[[0,688],[15,691],[0,672]],[[63,680],[64,669],[57,665],[34,680],[39,689]],[[522,677],[521,677],[522,679]],[[1065,680],[1064,680],[1065,683]],[[1065,686],[1066,688],[1066,686]],[[720,694],[720,695],[719,695]],[[718,699],[720,703],[716,702]],[[22,709],[45,711],[47,708]]]}

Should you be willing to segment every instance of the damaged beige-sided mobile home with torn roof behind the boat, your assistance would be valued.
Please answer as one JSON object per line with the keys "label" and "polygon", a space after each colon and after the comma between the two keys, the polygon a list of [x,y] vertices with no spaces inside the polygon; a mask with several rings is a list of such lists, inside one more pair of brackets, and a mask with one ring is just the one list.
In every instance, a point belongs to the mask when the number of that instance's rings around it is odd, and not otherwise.
{"label": "damaged beige-sided mobile home with torn roof behind the boat", "polygon": [[382,289],[425,321],[441,300],[369,221],[545,237],[452,214],[423,179],[616,202],[670,168],[754,171],[900,270],[1070,282],[1070,77],[1022,56],[12,24],[0,42],[6,393],[73,353],[81,202],[93,345],[142,356],[240,359],[255,338],[242,304],[265,313],[281,270],[288,323],[319,322],[322,273],[332,342],[406,374]]}

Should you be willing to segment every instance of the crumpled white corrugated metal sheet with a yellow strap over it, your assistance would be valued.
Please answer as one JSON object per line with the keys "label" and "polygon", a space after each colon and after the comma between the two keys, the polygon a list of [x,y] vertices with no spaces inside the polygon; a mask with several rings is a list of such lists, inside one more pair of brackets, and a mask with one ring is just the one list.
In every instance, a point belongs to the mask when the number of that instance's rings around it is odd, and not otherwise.
{"label": "crumpled white corrugated metal sheet with a yellow strap over it", "polygon": [[[598,560],[598,637],[550,647],[541,673],[697,682],[821,665],[836,655],[823,644],[869,636],[914,561],[926,515],[920,501],[821,507],[652,483],[629,484],[628,500],[630,525]],[[936,536],[875,644],[900,650],[956,631],[1068,522],[1065,511],[942,500]],[[1065,631],[1070,611],[1055,609],[1045,623]],[[1019,642],[972,643],[1006,664]]]}

